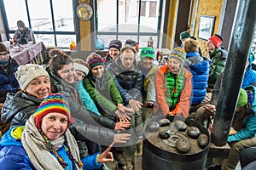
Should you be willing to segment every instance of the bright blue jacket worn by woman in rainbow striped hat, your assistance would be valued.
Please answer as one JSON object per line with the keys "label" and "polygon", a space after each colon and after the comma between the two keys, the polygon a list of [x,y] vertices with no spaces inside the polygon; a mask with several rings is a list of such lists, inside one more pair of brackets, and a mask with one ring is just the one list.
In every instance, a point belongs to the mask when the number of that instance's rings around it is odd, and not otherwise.
{"label": "bright blue jacket worn by woman in rainbow striped hat", "polygon": [[[35,169],[29,157],[26,155],[26,150],[24,150],[21,140],[12,136],[11,133],[13,129],[14,127],[10,128],[0,140],[0,169]],[[65,169],[73,170],[72,161],[68,157],[65,148],[61,147],[57,152],[68,164]],[[84,157],[82,160],[84,170],[96,169],[102,166],[102,164],[96,161],[97,155],[98,154]],[[53,154],[53,156],[55,155]]]}

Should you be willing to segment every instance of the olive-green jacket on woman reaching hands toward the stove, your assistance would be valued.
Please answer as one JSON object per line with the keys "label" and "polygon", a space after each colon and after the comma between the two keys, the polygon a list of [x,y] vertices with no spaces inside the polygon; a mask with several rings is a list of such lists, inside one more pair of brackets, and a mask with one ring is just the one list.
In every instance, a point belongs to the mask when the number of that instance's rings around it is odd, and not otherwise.
{"label": "olive-green jacket on woman reaching hands toward the stove", "polygon": [[117,110],[118,104],[123,103],[123,99],[110,72],[105,70],[100,79],[93,77],[89,73],[84,78],[83,84],[102,115],[107,116],[107,113],[115,116],[113,112]]}

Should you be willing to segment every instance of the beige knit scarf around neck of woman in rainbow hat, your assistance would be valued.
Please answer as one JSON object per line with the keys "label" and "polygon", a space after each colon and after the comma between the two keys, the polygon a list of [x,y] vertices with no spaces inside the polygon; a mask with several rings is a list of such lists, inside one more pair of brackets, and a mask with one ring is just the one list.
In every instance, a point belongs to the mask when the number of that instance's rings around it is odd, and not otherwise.
{"label": "beige knit scarf around neck of woman in rainbow hat", "polygon": [[[67,129],[67,141],[71,153],[76,160],[80,160],[79,157],[79,147],[76,143],[73,135]],[[30,116],[29,120],[26,121],[26,128],[24,129],[21,142],[26,150],[26,154],[29,157],[30,161],[36,169],[38,170],[63,170],[59,161],[49,152],[49,144],[45,143],[43,136],[38,132],[38,127],[34,122],[34,116]],[[73,163],[75,163],[73,161]],[[77,169],[79,166],[75,163]]]}

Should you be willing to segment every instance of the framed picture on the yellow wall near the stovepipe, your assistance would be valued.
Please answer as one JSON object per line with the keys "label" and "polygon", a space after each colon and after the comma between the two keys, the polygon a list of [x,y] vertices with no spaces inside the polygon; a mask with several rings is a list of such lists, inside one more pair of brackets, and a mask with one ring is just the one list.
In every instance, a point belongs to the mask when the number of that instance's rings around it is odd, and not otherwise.
{"label": "framed picture on the yellow wall near the stovepipe", "polygon": [[198,26],[198,37],[203,40],[208,40],[212,37],[214,28],[215,16],[200,15]]}

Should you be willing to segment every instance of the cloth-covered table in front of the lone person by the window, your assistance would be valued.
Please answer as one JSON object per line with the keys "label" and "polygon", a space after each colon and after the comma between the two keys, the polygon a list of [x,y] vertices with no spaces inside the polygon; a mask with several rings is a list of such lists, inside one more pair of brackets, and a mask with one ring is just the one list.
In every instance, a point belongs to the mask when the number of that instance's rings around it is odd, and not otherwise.
{"label": "cloth-covered table in front of the lone person by the window", "polygon": [[4,43],[9,47],[10,57],[15,59],[18,65],[26,65],[27,63],[43,65],[46,56],[46,48],[44,47],[43,42],[37,42],[35,44],[20,44],[23,48],[21,51],[17,51],[15,48],[10,46],[9,42]]}

